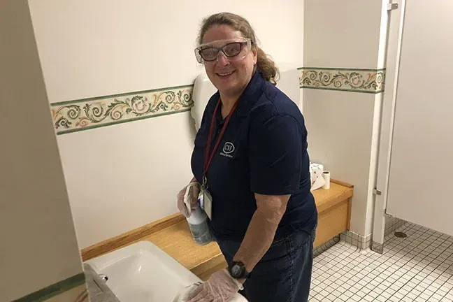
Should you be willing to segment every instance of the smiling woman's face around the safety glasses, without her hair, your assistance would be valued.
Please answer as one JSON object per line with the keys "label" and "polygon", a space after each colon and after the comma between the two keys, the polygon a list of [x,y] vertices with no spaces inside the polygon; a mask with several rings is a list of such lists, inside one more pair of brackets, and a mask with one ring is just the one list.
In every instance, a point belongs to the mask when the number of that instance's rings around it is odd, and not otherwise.
{"label": "smiling woman's face around the safety glasses, without her hair", "polygon": [[[233,30],[228,25],[214,25],[204,34],[202,48],[222,48],[229,43],[243,41],[245,38],[240,31]],[[227,48],[237,47],[235,44],[230,45]],[[205,60],[204,65],[208,78],[222,94],[237,96],[252,78],[256,63],[257,51],[254,48],[250,51],[247,44],[243,43],[238,55],[227,57],[219,52],[217,59],[212,62]]]}

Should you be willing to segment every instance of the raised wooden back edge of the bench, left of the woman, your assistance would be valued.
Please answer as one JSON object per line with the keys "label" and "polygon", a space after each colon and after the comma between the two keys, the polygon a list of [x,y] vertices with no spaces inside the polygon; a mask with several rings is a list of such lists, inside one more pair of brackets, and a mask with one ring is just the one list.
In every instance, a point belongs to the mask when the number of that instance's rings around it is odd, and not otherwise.
{"label": "raised wooden back edge of the bench, left of the woman", "polygon": [[161,220],[157,220],[156,222],[145,224],[143,227],[139,227],[138,229],[133,229],[113,238],[103,240],[100,243],[85,247],[81,251],[82,261],[87,261],[88,259],[117,250],[120,247],[124,247],[124,245],[129,245],[134,241],[141,240],[145,236],[149,236],[152,233],[166,229],[167,227],[177,224],[178,222],[182,222],[183,220],[185,220],[184,216],[180,213],[175,213],[168,217],[164,217]]}

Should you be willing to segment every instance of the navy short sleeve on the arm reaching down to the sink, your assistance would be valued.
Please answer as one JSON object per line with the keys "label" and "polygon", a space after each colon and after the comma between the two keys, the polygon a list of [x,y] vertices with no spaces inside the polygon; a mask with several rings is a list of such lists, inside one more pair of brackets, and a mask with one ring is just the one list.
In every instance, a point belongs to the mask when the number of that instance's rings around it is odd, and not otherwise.
{"label": "navy short sleeve on the arm reaching down to the sink", "polygon": [[250,129],[252,192],[285,195],[299,190],[302,138],[299,123],[289,115],[275,115]]}

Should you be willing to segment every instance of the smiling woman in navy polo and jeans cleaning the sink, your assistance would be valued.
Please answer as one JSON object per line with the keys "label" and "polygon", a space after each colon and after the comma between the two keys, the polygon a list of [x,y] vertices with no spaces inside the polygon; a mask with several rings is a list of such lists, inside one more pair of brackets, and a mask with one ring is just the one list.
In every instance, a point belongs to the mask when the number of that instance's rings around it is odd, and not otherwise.
{"label": "smiling woman in navy polo and jeans cleaning the sink", "polygon": [[275,87],[278,70],[243,17],[208,17],[195,53],[218,92],[196,134],[191,182],[229,269],[189,301],[228,301],[241,289],[250,302],[308,301],[317,210],[303,116]]}

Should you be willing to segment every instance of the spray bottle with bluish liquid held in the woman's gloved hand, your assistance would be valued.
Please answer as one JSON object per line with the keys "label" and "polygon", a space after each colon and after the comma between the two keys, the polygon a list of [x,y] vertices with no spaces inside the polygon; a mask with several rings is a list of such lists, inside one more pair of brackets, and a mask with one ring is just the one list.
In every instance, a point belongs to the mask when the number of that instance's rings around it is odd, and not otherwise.
{"label": "spray bottle with bluish liquid held in the woman's gloved hand", "polygon": [[190,187],[198,185],[197,182],[191,183],[187,186],[186,192],[184,194],[184,204],[189,212],[189,217],[187,217],[187,222],[189,223],[190,232],[192,233],[192,237],[199,245],[207,245],[211,241],[213,241],[213,236],[210,233],[208,227],[208,215],[203,211],[200,206],[199,201],[196,202],[196,207],[191,207],[191,200],[192,196],[189,195]]}

